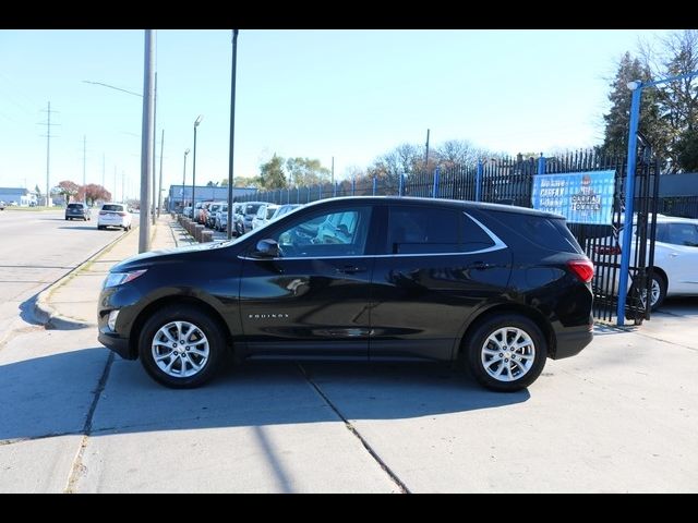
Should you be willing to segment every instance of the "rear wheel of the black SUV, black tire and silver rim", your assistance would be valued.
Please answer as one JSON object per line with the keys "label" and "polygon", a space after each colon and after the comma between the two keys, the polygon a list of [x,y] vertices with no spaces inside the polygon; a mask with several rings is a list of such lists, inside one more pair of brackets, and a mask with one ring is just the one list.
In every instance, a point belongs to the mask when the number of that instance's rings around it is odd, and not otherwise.
{"label": "rear wheel of the black SUV, black tire and silver rim", "polygon": [[[504,348],[495,343],[497,339],[503,341]],[[507,342],[512,343],[515,340],[527,344],[514,352],[507,352]],[[502,352],[491,353],[493,350]],[[515,392],[528,387],[540,376],[547,357],[547,342],[541,329],[526,316],[497,314],[484,319],[468,339],[464,340],[464,351],[468,369],[480,385],[497,392]],[[531,361],[531,352],[532,363],[522,366],[520,362]],[[519,358],[519,362],[516,362],[516,358]],[[486,362],[490,362],[490,365],[485,365]],[[492,375],[505,374],[505,369],[508,377],[505,375],[496,378]]]}

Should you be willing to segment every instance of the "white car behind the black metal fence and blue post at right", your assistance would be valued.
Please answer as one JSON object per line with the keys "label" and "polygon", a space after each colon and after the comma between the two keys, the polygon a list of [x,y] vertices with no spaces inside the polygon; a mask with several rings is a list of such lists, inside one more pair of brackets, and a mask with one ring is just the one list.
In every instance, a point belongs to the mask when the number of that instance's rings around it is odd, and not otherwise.
{"label": "white car behind the black metal fence and blue post at right", "polygon": [[[597,247],[599,254],[611,263],[621,264],[623,231],[617,239],[604,239]],[[635,259],[635,229],[630,259]],[[649,245],[648,245],[649,246]],[[666,296],[698,296],[698,219],[657,216],[654,264],[650,287],[650,306],[657,311]],[[595,283],[602,284],[602,271]],[[631,285],[631,282],[628,282]],[[615,282],[617,292],[617,281]],[[645,297],[645,296],[642,296]]]}

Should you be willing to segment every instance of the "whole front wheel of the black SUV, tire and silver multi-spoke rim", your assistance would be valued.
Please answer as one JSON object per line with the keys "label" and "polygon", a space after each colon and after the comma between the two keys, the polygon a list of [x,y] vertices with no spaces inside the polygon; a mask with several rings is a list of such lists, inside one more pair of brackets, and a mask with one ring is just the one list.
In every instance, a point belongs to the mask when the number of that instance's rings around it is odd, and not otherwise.
{"label": "whole front wheel of the black SUV, tire and silver multi-spoke rim", "polygon": [[210,380],[224,357],[222,329],[190,305],[155,313],[143,326],[139,354],[145,370],[167,387],[183,389]]}

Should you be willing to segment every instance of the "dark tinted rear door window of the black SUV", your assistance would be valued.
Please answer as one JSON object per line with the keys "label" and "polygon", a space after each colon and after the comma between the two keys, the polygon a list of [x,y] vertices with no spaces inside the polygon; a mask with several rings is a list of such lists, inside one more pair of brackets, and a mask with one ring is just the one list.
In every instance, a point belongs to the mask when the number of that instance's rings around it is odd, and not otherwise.
{"label": "dark tinted rear door window of the black SUV", "polygon": [[429,207],[390,207],[390,254],[438,254],[482,251],[494,241],[465,212]]}

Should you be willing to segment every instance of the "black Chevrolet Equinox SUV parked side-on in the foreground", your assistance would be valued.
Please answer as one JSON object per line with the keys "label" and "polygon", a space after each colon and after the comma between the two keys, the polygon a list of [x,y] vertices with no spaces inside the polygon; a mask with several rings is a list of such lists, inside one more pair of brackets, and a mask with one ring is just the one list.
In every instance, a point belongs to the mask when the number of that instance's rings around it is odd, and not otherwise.
{"label": "black Chevrolet Equinox SUV parked side-on in the foreground", "polygon": [[111,268],[99,341],[169,387],[224,355],[462,358],[488,388],[532,384],[592,339],[593,266],[557,215],[446,199],[317,202],[238,240]]}

